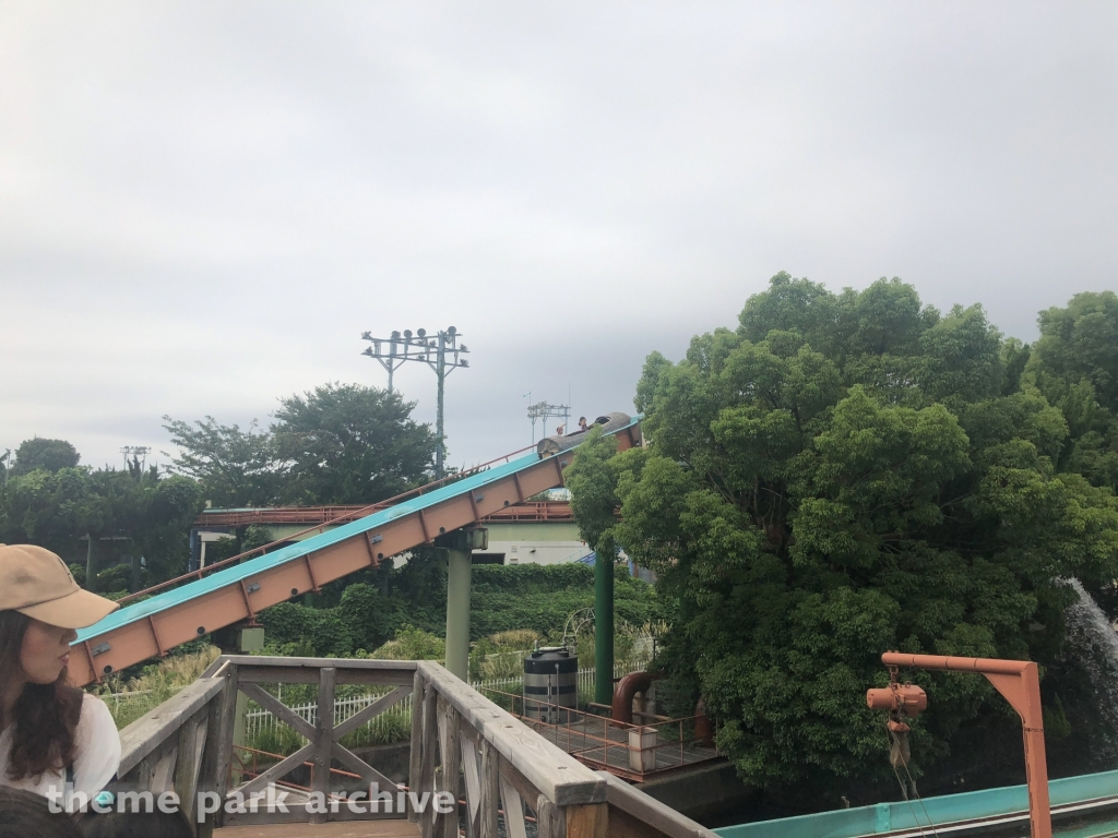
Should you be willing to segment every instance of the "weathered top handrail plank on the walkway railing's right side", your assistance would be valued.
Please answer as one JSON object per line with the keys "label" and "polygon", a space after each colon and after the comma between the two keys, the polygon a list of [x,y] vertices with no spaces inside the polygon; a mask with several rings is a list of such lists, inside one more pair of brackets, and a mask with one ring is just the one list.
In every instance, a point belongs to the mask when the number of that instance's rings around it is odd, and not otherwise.
{"label": "weathered top handrail plank on the walkway railing's right side", "polygon": [[463,718],[492,742],[501,755],[556,806],[604,803],[605,781],[570,754],[537,735],[520,720],[498,707],[437,664],[419,667],[439,694]]}

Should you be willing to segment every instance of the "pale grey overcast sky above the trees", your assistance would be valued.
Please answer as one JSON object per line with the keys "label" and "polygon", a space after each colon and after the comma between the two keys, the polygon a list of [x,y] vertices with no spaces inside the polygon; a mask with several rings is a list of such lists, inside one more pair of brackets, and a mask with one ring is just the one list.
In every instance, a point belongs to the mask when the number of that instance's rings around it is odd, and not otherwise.
{"label": "pale grey overcast sky above the trees", "polygon": [[0,0],[0,453],[169,450],[453,324],[476,463],[528,391],[631,411],[778,270],[1032,340],[1118,287],[1116,39],[1114,2]]}

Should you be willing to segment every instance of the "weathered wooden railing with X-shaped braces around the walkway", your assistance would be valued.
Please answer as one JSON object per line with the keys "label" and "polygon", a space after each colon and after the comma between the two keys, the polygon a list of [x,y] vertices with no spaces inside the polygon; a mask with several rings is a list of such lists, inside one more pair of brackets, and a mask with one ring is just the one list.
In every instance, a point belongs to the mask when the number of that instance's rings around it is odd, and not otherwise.
{"label": "weathered wooden railing with X-shaped braces around the walkway", "polygon": [[[271,684],[318,686],[318,723],[311,724],[264,688]],[[338,686],[360,684],[389,692],[349,718],[334,723]],[[234,760],[238,694],[266,707],[306,744],[252,772]],[[407,785],[398,785],[341,744],[343,736],[411,696],[411,750]],[[713,838],[713,832],[608,774],[591,771],[518,718],[433,661],[342,660],[222,656],[201,679],[121,732],[121,779],[153,793],[176,791],[200,838],[214,828],[284,821],[323,822],[407,818],[423,838],[525,838],[534,821],[539,838]],[[292,771],[312,766],[310,785],[285,801],[286,812],[265,804],[216,812],[218,801],[241,801],[265,792]],[[332,770],[338,765],[342,770]],[[406,801],[390,811],[350,803],[331,788],[343,775],[352,787],[394,792]],[[297,788],[293,783],[285,790]],[[306,791],[310,789],[310,792]],[[406,794],[404,792],[407,792]],[[199,792],[212,806],[198,816]],[[316,792],[329,806],[314,804]],[[446,811],[432,806],[443,792]],[[426,796],[426,797],[425,797]],[[426,799],[427,806],[416,806]],[[266,801],[262,801],[266,802]],[[464,829],[463,829],[464,828]]]}

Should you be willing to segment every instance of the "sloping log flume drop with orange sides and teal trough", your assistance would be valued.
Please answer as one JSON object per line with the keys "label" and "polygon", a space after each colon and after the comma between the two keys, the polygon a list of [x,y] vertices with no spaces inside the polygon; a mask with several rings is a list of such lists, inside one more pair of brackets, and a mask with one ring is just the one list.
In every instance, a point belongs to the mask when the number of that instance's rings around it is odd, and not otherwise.
{"label": "sloping log flume drop with orange sides and teal trough", "polygon": [[[603,417],[607,418],[603,430],[617,440],[618,450],[641,445],[638,419],[624,413]],[[536,453],[517,459],[510,455],[506,463],[480,466],[467,476],[453,475],[434,488],[424,487],[418,496],[401,495],[395,505],[330,532],[256,558],[252,556],[260,551],[235,556],[142,591],[136,596],[153,596],[78,634],[69,664],[72,682],[77,686],[100,682],[104,675],[217,629],[250,621],[265,608],[318,591],[326,582],[377,566],[386,556],[475,526],[540,492],[562,486],[563,469],[581,438],[543,439]]]}

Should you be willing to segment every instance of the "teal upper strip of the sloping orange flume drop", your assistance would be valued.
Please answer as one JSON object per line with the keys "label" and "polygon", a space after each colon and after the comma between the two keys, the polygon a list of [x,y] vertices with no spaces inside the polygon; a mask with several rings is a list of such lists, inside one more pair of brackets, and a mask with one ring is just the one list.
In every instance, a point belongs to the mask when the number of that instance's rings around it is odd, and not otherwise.
{"label": "teal upper strip of the sloping orange flume drop", "polygon": [[[631,428],[638,422],[639,417],[634,417],[629,425],[625,426],[625,428]],[[625,428],[619,428],[613,434],[625,430]],[[552,456],[569,456],[569,451],[561,451]],[[196,582],[183,584],[180,588],[158,593],[151,599],[138,602],[134,606],[127,606],[126,608],[122,608],[120,611],[111,613],[101,622],[97,622],[89,628],[82,629],[78,632],[77,640],[74,642],[77,645],[84,642],[91,637],[104,635],[113,629],[120,628],[121,626],[126,626],[130,622],[146,619],[151,615],[159,613],[160,611],[172,608],[181,602],[188,602],[189,600],[197,599],[198,597],[202,597],[220,588],[225,588],[230,583],[248,579],[267,568],[273,568],[277,564],[284,564],[286,562],[295,561],[296,559],[302,559],[304,555],[345,541],[353,535],[360,535],[366,532],[375,533],[377,527],[383,526],[390,521],[395,521],[398,517],[409,515],[419,510],[426,510],[435,504],[448,501],[452,497],[457,497],[466,492],[476,492],[491,483],[500,480],[518,472],[523,472],[525,468],[530,468],[540,461],[540,458],[534,453],[528,454],[523,457],[511,460],[510,463],[493,466],[486,472],[482,472],[471,477],[465,477],[455,483],[451,483],[446,486],[442,486],[437,489],[433,489],[425,495],[419,495],[410,501],[405,501],[401,504],[373,513],[367,517],[359,518],[349,524],[343,524],[335,530],[330,530],[321,535],[314,536],[313,539],[307,539],[306,541],[301,541],[297,544],[282,547],[281,550],[267,553],[266,555],[250,559],[249,561],[243,562],[233,568],[226,568],[225,570],[220,570]]]}

